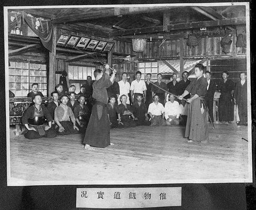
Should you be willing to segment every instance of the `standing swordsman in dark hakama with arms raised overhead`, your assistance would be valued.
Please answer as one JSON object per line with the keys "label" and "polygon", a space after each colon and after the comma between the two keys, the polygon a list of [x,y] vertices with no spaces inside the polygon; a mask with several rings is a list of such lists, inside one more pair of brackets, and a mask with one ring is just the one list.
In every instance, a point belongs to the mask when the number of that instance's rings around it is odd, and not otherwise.
{"label": "standing swordsman in dark hakama with arms raised overhead", "polygon": [[106,64],[105,68],[106,71],[104,73],[100,69],[94,71],[96,81],[92,85],[92,97],[96,100],[96,103],[92,107],[91,117],[83,141],[86,150],[94,150],[93,147],[105,148],[110,145],[107,88],[113,84],[116,72],[113,71],[110,76],[109,65]]}

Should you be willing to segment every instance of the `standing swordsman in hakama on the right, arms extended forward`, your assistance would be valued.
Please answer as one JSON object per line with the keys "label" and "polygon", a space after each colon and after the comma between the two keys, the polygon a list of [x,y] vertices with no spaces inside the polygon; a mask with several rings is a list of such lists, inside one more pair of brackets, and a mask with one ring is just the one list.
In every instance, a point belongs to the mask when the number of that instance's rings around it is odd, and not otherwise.
{"label": "standing swordsman in hakama on the right, arms extended forward", "polygon": [[204,66],[197,64],[195,66],[196,80],[186,87],[182,95],[179,96],[179,100],[183,97],[191,94],[191,98],[188,99],[188,118],[185,129],[185,137],[189,139],[188,142],[201,141],[206,143],[209,140],[209,133],[207,127],[208,115],[204,106],[203,97],[207,93],[208,83],[206,78],[203,77]]}

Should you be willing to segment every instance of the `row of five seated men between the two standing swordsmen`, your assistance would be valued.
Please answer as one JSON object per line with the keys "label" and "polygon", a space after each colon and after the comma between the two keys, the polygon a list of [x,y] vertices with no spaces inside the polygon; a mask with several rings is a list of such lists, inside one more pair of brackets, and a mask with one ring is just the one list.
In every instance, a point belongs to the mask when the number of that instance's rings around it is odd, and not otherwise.
{"label": "row of five seated men between the two standing swordsmen", "polygon": [[159,95],[155,94],[153,103],[147,109],[142,101],[142,95],[136,96],[136,101],[127,104],[127,96],[121,95],[121,104],[115,103],[115,97],[109,98],[107,104],[108,116],[111,128],[125,128],[135,126],[165,126],[179,125],[180,106],[174,101],[174,95],[168,96],[169,101],[165,106],[159,102]]}

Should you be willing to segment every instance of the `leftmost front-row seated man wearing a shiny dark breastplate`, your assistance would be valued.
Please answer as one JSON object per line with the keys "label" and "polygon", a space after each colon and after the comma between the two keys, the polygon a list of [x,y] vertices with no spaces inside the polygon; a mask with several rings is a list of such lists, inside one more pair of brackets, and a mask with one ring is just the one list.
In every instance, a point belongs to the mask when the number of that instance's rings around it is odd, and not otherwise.
{"label": "leftmost front-row seated man wearing a shiny dark breastplate", "polygon": [[[34,104],[26,109],[22,117],[22,123],[26,127],[25,138],[55,137],[56,132],[52,129],[53,118],[48,109],[42,105],[41,95],[35,95],[33,102]],[[44,118],[47,119],[48,125],[44,125]]]}

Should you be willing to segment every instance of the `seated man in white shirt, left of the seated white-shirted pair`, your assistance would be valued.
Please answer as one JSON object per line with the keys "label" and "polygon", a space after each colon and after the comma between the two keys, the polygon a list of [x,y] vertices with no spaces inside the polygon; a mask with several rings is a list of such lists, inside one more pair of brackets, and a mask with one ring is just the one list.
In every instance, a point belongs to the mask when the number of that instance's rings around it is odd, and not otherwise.
{"label": "seated man in white shirt, left of the seated white-shirted pair", "polygon": [[165,123],[165,107],[159,103],[159,96],[154,95],[154,102],[148,106],[147,113],[151,118],[151,126],[163,126]]}

